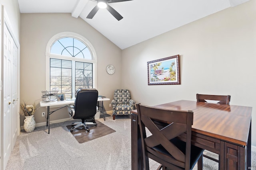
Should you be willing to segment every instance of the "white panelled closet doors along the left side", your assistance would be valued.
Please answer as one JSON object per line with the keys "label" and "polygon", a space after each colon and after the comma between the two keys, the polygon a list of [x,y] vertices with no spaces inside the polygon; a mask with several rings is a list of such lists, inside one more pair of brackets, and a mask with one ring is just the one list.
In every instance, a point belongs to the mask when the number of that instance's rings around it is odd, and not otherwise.
{"label": "white panelled closet doors along the left side", "polygon": [[18,49],[4,24],[2,166],[5,168],[18,135]]}

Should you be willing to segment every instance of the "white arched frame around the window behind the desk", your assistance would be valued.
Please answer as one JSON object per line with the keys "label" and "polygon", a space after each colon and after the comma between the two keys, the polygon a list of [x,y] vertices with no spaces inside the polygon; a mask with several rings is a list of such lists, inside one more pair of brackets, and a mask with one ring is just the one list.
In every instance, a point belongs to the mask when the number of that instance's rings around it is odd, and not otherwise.
{"label": "white arched frame around the window behind the desk", "polygon": [[[89,51],[91,52],[92,59],[82,59],[82,58],[76,58],[76,57],[70,57],[70,56],[64,56],[64,55],[57,55],[57,54],[51,54],[51,47],[52,45],[58,40],[62,39],[64,37],[70,37],[74,39],[78,39],[82,43],[84,43]],[[94,47],[88,41],[85,37],[82,35],[79,35],[77,33],[73,32],[61,32],[56,35],[54,35],[47,43],[46,45],[46,52],[45,52],[45,90],[50,91],[50,58],[53,59],[62,59],[62,60],[72,60],[72,61],[79,61],[79,62],[84,62],[84,63],[92,63],[92,69],[93,69],[93,74],[92,74],[92,79],[93,79],[93,88],[97,89],[97,55]],[[74,76],[72,74],[72,76]]]}

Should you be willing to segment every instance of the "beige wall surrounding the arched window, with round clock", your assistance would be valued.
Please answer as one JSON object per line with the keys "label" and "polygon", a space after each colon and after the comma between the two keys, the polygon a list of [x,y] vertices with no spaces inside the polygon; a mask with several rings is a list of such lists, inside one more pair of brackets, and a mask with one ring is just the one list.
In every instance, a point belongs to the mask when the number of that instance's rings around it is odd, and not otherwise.
{"label": "beige wall surrounding the arched window, with round clock", "polygon": [[[21,14],[20,41],[20,99],[28,104],[35,102],[39,107],[41,91],[45,87],[45,51],[50,38],[57,33],[70,31],[84,36],[93,45],[97,54],[97,90],[100,95],[113,99],[114,90],[121,88],[122,51],[101,33],[92,28],[81,18],[71,14]],[[108,75],[106,66],[113,64],[116,72]],[[110,101],[104,102],[106,111]],[[46,122],[42,117],[46,108],[39,108],[35,113],[36,123]],[[51,121],[68,118],[67,108],[51,115]],[[23,125],[24,117],[20,124]]]}

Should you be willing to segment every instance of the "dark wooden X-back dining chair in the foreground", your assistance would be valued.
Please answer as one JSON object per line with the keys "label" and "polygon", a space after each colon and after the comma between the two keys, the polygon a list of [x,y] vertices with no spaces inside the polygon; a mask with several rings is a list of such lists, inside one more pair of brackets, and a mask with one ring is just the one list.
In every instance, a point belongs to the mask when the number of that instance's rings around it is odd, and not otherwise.
{"label": "dark wooden X-back dining chair in the foreground", "polygon": [[[202,169],[204,149],[191,145],[193,111],[159,109],[137,104],[144,169],[149,170],[148,158],[162,169],[192,170],[196,162]],[[152,135],[146,134],[146,128]],[[186,141],[177,139],[186,133]]]}

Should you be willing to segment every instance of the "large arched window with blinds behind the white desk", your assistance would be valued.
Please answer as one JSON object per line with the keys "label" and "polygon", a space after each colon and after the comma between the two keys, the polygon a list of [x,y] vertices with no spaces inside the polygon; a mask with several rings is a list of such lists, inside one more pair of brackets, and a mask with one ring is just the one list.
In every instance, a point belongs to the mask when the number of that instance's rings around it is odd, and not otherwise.
{"label": "large arched window with blinds behind the white desk", "polygon": [[46,46],[46,89],[72,98],[78,88],[96,88],[96,53],[76,33],[59,33]]}

